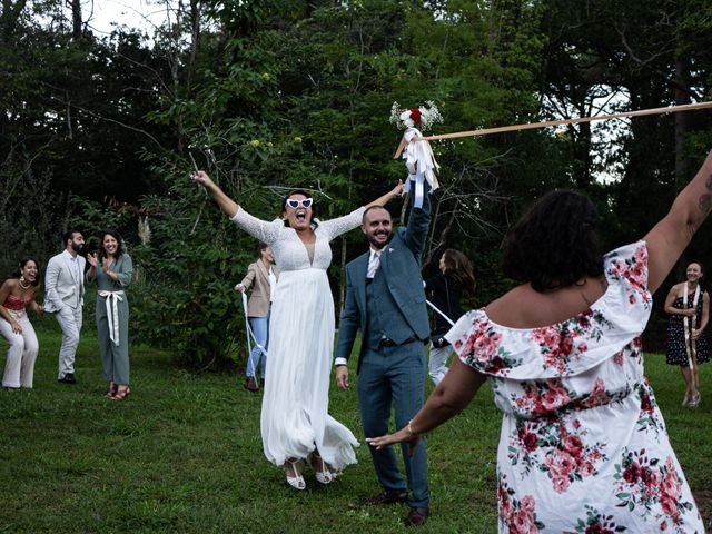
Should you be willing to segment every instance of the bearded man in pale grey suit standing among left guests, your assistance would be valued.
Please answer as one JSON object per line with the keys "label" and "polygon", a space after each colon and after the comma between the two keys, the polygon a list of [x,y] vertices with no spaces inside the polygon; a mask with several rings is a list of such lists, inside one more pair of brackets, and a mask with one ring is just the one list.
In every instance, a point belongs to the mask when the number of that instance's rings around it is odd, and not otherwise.
{"label": "bearded man in pale grey suit standing among left guests", "polygon": [[81,330],[81,307],[85,304],[85,265],[81,256],[85,238],[79,230],[62,234],[65,250],[52,256],[44,275],[44,312],[55,315],[62,329],[59,349],[58,380],[75,384],[75,356]]}

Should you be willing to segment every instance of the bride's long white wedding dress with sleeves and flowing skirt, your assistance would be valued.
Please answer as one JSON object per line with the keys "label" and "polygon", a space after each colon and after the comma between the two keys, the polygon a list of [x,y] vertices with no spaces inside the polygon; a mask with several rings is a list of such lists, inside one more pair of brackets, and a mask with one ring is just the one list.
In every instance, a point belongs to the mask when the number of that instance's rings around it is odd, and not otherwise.
{"label": "bride's long white wedding dress with sleeves and flowing skirt", "polygon": [[319,221],[312,259],[281,219],[267,222],[241,208],[230,219],[269,245],[279,267],[260,421],[265,456],[275,465],[306,458],[315,448],[336,471],[356,463],[356,437],[327,413],[335,325],[326,269],[332,263],[329,241],[358,227],[364,210]]}

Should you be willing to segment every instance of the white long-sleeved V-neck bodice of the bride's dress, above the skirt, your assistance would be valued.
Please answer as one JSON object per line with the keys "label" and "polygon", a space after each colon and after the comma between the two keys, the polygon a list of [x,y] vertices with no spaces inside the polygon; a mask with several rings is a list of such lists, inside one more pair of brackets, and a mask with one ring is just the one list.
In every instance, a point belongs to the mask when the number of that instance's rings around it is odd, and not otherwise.
{"label": "white long-sleeved V-neck bodice of the bride's dress, above the skirt", "polygon": [[271,248],[275,263],[281,273],[300,269],[327,269],[332,264],[332,247],[329,241],[342,234],[358,227],[364,215],[360,207],[344,217],[332,220],[320,220],[314,233],[314,258],[309,259],[307,247],[301,243],[297,233],[284,225],[281,219],[271,222],[253,217],[243,208],[230,219],[250,236],[266,243]]}

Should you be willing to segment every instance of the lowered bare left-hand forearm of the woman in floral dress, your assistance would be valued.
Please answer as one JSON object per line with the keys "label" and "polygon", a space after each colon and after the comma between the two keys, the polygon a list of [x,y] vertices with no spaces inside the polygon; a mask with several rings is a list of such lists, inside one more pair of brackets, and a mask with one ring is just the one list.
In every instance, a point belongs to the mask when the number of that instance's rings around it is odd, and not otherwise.
{"label": "lowered bare left-hand forearm of the woman in floral dress", "polygon": [[485,375],[463,364],[458,357],[454,357],[453,365],[443,382],[431,393],[423,409],[411,419],[407,426],[387,436],[367,437],[366,442],[377,449],[393,443],[408,442],[411,455],[413,455],[421,434],[432,431],[465,409],[485,380]]}

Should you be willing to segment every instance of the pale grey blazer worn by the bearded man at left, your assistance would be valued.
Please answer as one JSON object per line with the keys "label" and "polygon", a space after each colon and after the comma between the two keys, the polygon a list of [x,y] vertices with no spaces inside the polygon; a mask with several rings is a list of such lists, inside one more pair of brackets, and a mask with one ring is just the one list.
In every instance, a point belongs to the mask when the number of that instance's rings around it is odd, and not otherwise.
{"label": "pale grey blazer worn by the bearded man at left", "polygon": [[73,268],[67,250],[52,256],[44,273],[44,312],[55,313],[65,306],[85,304],[85,266],[87,260],[77,256],[79,273]]}

